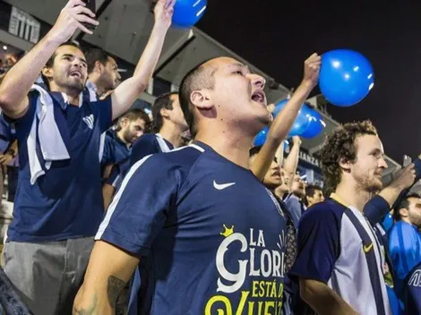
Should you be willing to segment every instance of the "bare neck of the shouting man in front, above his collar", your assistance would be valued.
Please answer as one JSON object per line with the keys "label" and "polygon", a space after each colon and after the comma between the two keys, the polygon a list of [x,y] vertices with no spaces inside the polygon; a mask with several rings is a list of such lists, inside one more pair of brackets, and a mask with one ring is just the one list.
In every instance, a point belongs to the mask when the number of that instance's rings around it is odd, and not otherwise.
{"label": "bare neck of the shouting man in front, above his collar", "polygon": [[253,137],[236,133],[239,132],[214,128],[207,132],[198,132],[194,140],[202,141],[222,157],[238,166],[249,169],[249,150],[253,146]]}

